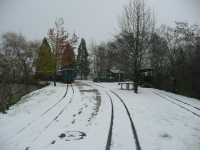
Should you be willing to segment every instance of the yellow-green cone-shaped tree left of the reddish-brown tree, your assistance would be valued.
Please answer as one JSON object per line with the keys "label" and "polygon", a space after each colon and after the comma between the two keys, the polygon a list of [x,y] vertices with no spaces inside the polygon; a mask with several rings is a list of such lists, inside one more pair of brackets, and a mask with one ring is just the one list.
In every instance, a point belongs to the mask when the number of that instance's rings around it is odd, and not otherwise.
{"label": "yellow-green cone-shaped tree left of the reddish-brown tree", "polygon": [[55,57],[46,38],[44,38],[39,49],[38,60],[36,62],[36,74],[38,77],[47,78],[55,72]]}

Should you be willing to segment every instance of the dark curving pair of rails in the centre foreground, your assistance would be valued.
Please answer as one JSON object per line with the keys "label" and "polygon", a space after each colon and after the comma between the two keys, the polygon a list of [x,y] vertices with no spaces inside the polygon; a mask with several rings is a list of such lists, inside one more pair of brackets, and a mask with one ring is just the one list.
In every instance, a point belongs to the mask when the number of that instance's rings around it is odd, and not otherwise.
{"label": "dark curving pair of rails in the centre foreground", "polygon": [[[112,133],[113,133],[113,124],[115,124],[115,122],[113,121],[114,120],[114,105],[113,105],[113,98],[111,95],[115,96],[118,101],[122,104],[122,106],[124,107],[124,109],[126,110],[126,115],[128,116],[129,118],[129,122],[130,122],[130,125],[131,125],[131,129],[132,129],[132,135],[133,135],[133,142],[135,143],[135,147],[133,147],[132,149],[135,149],[136,150],[141,150],[141,146],[140,146],[140,142],[139,142],[139,138],[138,138],[138,135],[137,135],[137,130],[135,128],[135,125],[134,125],[134,122],[133,122],[133,119],[131,117],[131,114],[129,112],[129,109],[127,107],[127,105],[125,104],[124,100],[114,91],[110,90],[110,89],[107,89],[106,87],[104,86],[101,86],[101,85],[98,85],[98,84],[94,84],[98,87],[101,87],[103,88],[104,90],[106,89],[105,93],[106,95],[109,97],[109,100],[110,100],[110,104],[111,104],[111,121],[110,121],[110,128],[109,128],[109,133],[108,133],[108,138],[107,138],[107,144],[106,144],[106,150],[110,150],[112,149],[111,148],[111,143],[112,143]],[[117,100],[116,99],[116,100]]]}

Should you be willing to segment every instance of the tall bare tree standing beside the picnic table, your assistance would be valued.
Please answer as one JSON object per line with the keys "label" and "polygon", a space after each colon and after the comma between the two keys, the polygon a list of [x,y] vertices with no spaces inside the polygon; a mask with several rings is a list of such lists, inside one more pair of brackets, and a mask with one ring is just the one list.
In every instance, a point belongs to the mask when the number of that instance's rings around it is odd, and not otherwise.
{"label": "tall bare tree standing beside the picnic table", "polygon": [[143,0],[130,0],[124,8],[120,27],[122,36],[127,40],[127,49],[133,66],[134,91],[137,93],[142,59],[154,30],[152,13]]}

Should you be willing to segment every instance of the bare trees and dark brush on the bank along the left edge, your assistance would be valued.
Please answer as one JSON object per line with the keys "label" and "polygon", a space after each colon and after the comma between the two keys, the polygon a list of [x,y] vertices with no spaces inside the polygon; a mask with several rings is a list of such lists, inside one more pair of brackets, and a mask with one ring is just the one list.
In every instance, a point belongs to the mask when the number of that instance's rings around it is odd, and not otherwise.
{"label": "bare trees and dark brush on the bank along the left edge", "polygon": [[5,33],[0,46],[0,111],[35,89],[34,63],[40,42],[17,33]]}

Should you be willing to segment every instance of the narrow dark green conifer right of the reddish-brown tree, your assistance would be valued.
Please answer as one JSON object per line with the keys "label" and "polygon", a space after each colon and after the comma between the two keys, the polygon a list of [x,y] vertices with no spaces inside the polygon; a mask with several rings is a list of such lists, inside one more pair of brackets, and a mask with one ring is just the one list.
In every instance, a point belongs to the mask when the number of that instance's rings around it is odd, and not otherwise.
{"label": "narrow dark green conifer right of the reddish-brown tree", "polygon": [[86,42],[83,38],[81,39],[81,43],[78,48],[77,67],[81,76],[81,80],[87,79],[90,69]]}

